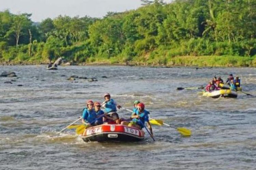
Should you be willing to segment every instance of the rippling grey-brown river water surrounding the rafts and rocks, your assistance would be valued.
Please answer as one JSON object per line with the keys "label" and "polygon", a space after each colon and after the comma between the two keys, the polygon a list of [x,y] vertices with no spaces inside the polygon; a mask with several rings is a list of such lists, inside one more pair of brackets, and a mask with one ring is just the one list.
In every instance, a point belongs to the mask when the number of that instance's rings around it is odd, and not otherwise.
{"label": "rippling grey-brown river water surrounding the rafts and rocks", "polygon": [[[0,73],[18,76],[0,77],[0,169],[255,169],[256,68],[45,67],[0,66]],[[175,89],[229,73],[254,96],[212,99],[197,89]],[[71,75],[98,81],[67,80]],[[147,135],[135,143],[85,143],[74,130],[56,134],[82,114],[87,100],[102,102],[105,92],[129,109],[140,100],[152,118],[193,134],[153,126],[156,142]],[[119,115],[130,113],[120,109]]]}

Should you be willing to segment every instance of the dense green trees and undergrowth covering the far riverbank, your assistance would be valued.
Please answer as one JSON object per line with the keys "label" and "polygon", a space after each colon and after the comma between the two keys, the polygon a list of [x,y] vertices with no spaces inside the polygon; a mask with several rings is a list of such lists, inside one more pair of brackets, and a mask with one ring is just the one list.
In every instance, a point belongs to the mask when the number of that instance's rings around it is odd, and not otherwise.
{"label": "dense green trees and undergrowth covering the far riverbank", "polygon": [[142,1],[102,19],[34,23],[31,14],[0,12],[0,61],[256,66],[255,0]]}

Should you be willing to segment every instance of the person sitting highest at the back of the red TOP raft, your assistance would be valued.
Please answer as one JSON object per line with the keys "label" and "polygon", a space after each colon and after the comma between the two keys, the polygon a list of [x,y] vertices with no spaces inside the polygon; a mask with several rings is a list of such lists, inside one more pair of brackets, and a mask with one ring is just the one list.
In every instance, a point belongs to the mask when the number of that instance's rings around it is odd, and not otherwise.
{"label": "person sitting highest at the back of the red TOP raft", "polygon": [[113,118],[113,120],[116,122],[116,124],[120,124],[120,119],[117,112],[117,109],[120,109],[121,106],[118,105],[114,99],[111,99],[111,96],[109,93],[105,93],[104,94],[104,103],[102,104],[102,107],[104,107],[104,112],[108,113],[110,115],[110,117]]}

